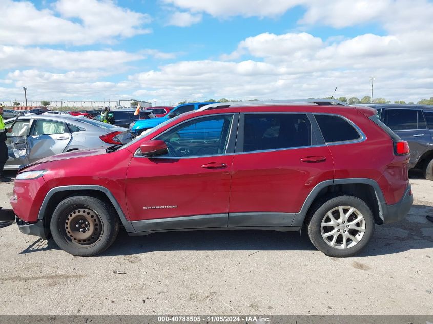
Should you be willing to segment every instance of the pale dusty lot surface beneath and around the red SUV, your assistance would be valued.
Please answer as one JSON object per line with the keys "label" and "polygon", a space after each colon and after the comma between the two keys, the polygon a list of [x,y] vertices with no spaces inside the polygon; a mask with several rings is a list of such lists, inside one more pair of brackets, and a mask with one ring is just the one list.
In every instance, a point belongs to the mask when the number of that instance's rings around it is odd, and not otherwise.
{"label": "pale dusty lot surface beneath and around the red SUV", "polygon": [[[433,181],[411,183],[408,217],[345,259],[272,231],[122,232],[104,254],[74,257],[11,225],[0,314],[433,314]],[[12,187],[0,184],[1,207]]]}

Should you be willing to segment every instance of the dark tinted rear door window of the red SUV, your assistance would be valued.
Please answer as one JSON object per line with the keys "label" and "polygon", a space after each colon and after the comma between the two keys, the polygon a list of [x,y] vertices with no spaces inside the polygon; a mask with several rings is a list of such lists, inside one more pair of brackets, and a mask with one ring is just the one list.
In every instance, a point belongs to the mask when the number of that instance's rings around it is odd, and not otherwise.
{"label": "dark tinted rear door window of the red SUV", "polygon": [[243,152],[311,145],[311,124],[305,114],[245,114]]}

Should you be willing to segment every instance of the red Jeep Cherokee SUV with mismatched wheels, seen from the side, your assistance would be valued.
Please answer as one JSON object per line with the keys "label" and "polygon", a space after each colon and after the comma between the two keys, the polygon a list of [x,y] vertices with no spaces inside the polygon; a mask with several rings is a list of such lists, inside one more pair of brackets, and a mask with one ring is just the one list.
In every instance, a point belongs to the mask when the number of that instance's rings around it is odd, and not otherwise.
{"label": "red Jeep Cherokee SUV with mismatched wheels, seen from the side", "polygon": [[20,170],[16,223],[80,256],[107,249],[120,226],[129,235],[305,227],[326,255],[351,256],[413,203],[408,145],[375,114],[329,100],[205,106],[126,145]]}

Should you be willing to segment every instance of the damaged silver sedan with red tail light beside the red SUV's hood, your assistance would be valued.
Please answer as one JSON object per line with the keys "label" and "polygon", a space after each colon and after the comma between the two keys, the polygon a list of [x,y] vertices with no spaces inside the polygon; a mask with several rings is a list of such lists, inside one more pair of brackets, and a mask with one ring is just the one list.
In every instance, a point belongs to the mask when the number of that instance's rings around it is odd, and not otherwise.
{"label": "damaged silver sedan with red tail light beside the red SUV's hood", "polygon": [[19,116],[5,121],[9,159],[5,170],[18,170],[54,154],[110,147],[131,140],[125,128],[70,115]]}

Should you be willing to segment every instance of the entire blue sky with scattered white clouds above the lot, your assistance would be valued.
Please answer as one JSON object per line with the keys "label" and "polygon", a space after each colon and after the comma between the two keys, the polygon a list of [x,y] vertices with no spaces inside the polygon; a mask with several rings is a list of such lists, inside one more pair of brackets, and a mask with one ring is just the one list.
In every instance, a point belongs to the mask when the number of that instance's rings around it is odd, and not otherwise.
{"label": "entire blue sky with scattered white clouds above the lot", "polygon": [[[0,100],[433,96],[427,0],[0,0]],[[19,23],[18,23],[19,22]]]}

